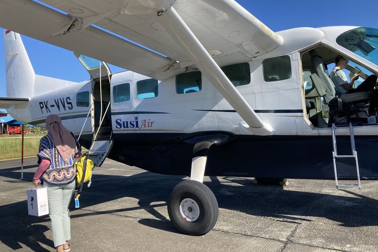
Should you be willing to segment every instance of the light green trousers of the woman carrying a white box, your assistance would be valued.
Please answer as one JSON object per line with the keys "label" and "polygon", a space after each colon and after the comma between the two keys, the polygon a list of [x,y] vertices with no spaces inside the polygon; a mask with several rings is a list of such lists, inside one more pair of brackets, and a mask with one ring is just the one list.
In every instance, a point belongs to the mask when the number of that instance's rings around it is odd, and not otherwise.
{"label": "light green trousers of the woman carrying a white box", "polygon": [[75,180],[67,185],[49,185],[46,183],[46,187],[52,237],[54,246],[57,247],[71,239],[71,222],[68,206],[75,188]]}

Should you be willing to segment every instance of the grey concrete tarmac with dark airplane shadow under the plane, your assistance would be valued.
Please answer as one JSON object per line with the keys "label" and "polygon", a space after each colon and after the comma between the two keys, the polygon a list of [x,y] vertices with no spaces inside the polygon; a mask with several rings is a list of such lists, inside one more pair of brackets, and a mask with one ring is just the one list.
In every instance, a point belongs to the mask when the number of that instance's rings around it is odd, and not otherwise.
{"label": "grey concrete tarmac with dark airplane shadow under the plane", "polygon": [[[0,161],[0,251],[54,251],[47,216],[29,216],[26,190],[36,158]],[[179,233],[167,200],[182,176],[159,175],[107,159],[72,202],[71,251],[378,251],[378,181],[337,190],[334,181],[205,177],[219,204],[214,229]]]}

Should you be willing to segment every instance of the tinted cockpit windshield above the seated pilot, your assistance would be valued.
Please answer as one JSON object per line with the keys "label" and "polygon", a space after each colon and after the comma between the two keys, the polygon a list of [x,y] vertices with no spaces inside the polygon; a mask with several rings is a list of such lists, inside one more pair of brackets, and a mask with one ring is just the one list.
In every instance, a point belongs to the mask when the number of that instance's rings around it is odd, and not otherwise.
{"label": "tinted cockpit windshield above the seated pilot", "polygon": [[359,27],[344,32],[336,42],[378,66],[378,29]]}

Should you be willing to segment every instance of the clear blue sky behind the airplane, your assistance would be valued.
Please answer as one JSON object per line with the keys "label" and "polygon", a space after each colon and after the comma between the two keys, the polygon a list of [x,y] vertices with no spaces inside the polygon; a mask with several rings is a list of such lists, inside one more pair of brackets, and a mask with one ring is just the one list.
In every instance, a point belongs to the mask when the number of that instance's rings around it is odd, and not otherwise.
{"label": "clear blue sky behind the airplane", "polygon": [[[238,0],[241,6],[257,17],[273,31],[295,27],[322,27],[333,25],[355,25],[378,28],[376,0],[360,1],[282,1]],[[59,79],[81,82],[89,79],[84,67],[74,54],[35,39],[22,36],[34,71]],[[4,32],[0,35],[0,96],[6,94],[4,62]],[[112,67],[113,72],[120,71]]]}

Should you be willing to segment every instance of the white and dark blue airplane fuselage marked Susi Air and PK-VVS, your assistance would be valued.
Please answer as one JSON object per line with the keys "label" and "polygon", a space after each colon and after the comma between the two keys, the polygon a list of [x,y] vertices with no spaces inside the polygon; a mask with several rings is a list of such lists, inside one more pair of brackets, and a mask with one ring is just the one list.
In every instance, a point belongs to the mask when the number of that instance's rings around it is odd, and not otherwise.
{"label": "white and dark blue airplane fuselage marked Susi Air and PK-VVS", "polygon": [[[222,95],[202,76],[199,92],[178,94],[176,78],[158,84],[152,98],[137,98],[138,81],[146,76],[125,71],[115,73],[111,81],[102,78],[104,92],[102,113],[110,100],[108,116],[103,125],[111,127],[114,146],[109,157],[146,170],[166,174],[190,174],[193,145],[177,138],[186,134],[226,134],[230,141],[210,149],[205,174],[259,177],[327,178],[333,179],[331,128],[314,127],[306,115],[302,53],[317,45],[355,57],[339,46],[335,37],[353,27],[296,28],[278,32],[283,44],[277,49],[247,61],[250,82],[237,90],[262,120],[269,121],[275,130],[272,136],[254,136],[240,126],[243,119]],[[306,34],[303,36],[302,34]],[[263,61],[287,55],[291,76],[282,81],[266,82]],[[377,73],[371,62],[358,58],[364,67]],[[38,95],[29,103],[8,109],[15,118],[44,127],[49,114],[58,114],[64,125],[79,135],[83,124],[82,143],[89,147],[93,136],[95,109],[99,103],[80,104],[77,94],[88,92],[88,101],[99,101],[99,78],[82,83],[54,85],[54,79],[40,78]],[[130,98],[114,102],[114,87],[130,85]],[[43,87],[47,87],[43,90]],[[91,110],[91,111],[89,111]],[[89,117],[87,115],[89,113]],[[376,151],[378,124],[354,128],[357,150],[360,153],[361,176],[375,178],[371,152]],[[340,128],[338,135],[347,150],[348,128]],[[375,161],[378,161],[375,160]],[[299,165],[298,165],[299,164]],[[364,169],[364,167],[366,167]],[[354,175],[345,175],[346,178]]]}

